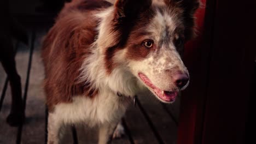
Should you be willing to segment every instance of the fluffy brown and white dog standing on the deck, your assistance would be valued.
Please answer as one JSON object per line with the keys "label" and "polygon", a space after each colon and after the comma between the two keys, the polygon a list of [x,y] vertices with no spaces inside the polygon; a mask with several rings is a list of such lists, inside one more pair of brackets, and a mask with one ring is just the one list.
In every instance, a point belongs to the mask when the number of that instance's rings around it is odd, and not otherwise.
{"label": "fluffy brown and white dog standing on the deck", "polygon": [[198,7],[198,0],[67,3],[43,43],[48,143],[59,143],[62,125],[74,123],[97,125],[98,143],[110,142],[146,88],[172,103],[188,86],[180,53]]}

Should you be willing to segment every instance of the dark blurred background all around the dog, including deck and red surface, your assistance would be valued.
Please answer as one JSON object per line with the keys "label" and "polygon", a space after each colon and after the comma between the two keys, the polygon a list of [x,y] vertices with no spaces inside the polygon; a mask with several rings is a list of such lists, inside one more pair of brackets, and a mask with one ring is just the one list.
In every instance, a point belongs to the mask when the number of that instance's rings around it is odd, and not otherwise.
{"label": "dark blurred background all around the dog, including deck and red surface", "polygon": [[[0,143],[47,139],[40,45],[65,2],[0,2]],[[122,120],[126,134],[113,143],[255,143],[255,8],[255,1],[202,0],[197,37],[184,52],[189,87],[172,105],[139,97]],[[97,143],[97,129],[65,129],[62,143]]]}

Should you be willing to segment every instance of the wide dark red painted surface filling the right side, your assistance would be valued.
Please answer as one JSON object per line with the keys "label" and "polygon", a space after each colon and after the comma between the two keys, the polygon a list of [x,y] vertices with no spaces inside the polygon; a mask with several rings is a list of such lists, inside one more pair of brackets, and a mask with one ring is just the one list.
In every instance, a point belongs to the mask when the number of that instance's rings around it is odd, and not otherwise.
{"label": "wide dark red painted surface filling the right side", "polygon": [[181,97],[177,143],[242,144],[256,53],[256,1],[206,5],[196,15],[199,36],[185,47],[190,85]]}

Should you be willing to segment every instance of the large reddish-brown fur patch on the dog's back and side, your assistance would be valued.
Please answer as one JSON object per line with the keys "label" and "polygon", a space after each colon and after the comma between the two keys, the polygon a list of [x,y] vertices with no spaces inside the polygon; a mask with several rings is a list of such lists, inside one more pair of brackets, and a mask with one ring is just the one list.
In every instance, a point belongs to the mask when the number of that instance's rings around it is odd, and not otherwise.
{"label": "large reddish-brown fur patch on the dog's back and side", "polygon": [[[91,6],[101,8],[107,5],[94,3]],[[74,95],[93,98],[98,92],[91,83],[78,80],[79,69],[84,59],[91,55],[89,48],[97,34],[93,11],[82,12],[79,9],[82,9],[81,5],[63,9],[43,41],[44,89],[50,110],[58,103],[70,102]]]}

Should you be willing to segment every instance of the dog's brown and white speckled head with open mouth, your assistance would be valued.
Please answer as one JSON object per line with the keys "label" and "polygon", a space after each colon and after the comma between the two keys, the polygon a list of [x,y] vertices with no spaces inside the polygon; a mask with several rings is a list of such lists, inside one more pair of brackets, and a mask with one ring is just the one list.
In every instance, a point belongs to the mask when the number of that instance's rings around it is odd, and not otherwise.
{"label": "dog's brown and white speckled head with open mouth", "polygon": [[173,102],[189,83],[181,53],[198,7],[198,0],[117,0],[99,35],[108,73],[126,67],[160,101]]}

